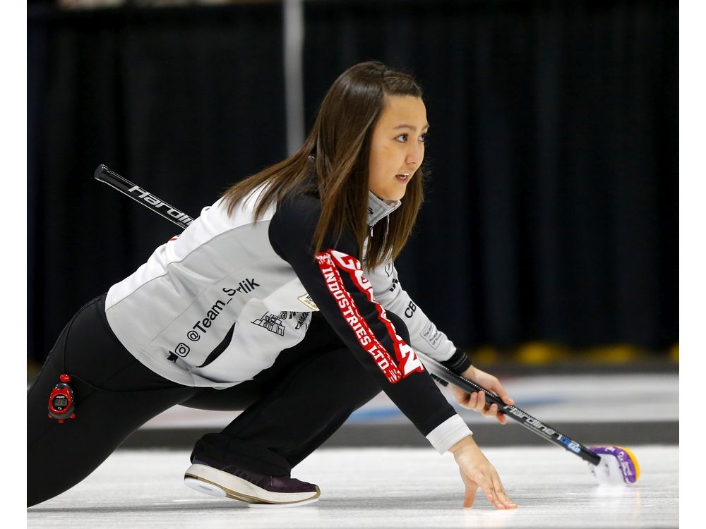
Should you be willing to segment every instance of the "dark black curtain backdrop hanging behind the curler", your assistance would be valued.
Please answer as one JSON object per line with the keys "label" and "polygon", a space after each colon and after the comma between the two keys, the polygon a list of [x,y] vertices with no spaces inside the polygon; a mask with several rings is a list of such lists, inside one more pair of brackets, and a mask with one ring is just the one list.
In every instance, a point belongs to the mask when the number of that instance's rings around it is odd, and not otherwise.
{"label": "dark black curtain backdrop hanging behind the curler", "polygon": [[[304,18],[308,125],[357,61],[424,86],[429,186],[398,268],[458,345],[678,342],[676,1],[308,1]],[[30,360],[176,229],[95,167],[198,214],[286,154],[282,72],[276,2],[30,11]]]}

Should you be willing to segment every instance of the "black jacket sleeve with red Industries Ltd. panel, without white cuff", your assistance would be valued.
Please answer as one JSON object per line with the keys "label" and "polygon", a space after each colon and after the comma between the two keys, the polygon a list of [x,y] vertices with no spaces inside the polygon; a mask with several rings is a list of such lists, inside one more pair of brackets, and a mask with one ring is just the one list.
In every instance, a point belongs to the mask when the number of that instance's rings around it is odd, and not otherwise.
{"label": "black jacket sleeve with red Industries Ltd. panel, without white cuff", "polygon": [[282,202],[270,223],[270,243],[292,266],[325,320],[423,434],[455,415],[417,355],[395,332],[361,271],[354,238],[311,248],[321,205],[315,197]]}

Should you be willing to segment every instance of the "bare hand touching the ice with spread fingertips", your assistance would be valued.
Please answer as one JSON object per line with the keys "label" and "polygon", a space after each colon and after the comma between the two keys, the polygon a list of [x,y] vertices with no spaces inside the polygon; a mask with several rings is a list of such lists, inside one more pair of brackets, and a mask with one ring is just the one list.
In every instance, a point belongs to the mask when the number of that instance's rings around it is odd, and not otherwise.
{"label": "bare hand touching the ice with spread fingertips", "polygon": [[510,501],[505,492],[498,471],[481,452],[473,437],[461,439],[449,451],[453,454],[466,487],[464,509],[473,506],[479,488],[496,509],[517,509],[517,504]]}

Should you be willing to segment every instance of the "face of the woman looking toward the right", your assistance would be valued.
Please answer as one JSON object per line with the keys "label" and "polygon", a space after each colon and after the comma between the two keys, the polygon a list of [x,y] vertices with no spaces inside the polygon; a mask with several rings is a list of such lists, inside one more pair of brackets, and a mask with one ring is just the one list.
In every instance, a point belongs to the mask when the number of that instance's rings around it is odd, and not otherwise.
{"label": "face of the woman looking toward the right", "polygon": [[368,186],[383,200],[400,200],[407,183],[424,159],[424,135],[429,130],[426,107],[411,95],[386,98],[373,130]]}

